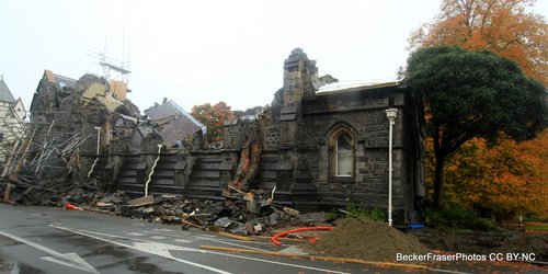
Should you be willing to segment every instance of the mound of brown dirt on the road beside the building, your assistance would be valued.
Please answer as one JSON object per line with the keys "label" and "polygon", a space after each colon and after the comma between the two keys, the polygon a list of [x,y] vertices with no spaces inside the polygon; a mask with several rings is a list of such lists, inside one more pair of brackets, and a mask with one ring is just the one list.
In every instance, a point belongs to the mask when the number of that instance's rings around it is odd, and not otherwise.
{"label": "mound of brown dirt on the road beside the building", "polygon": [[397,253],[429,252],[416,238],[404,235],[387,224],[350,218],[343,219],[333,230],[307,249],[319,255],[369,261],[396,261]]}

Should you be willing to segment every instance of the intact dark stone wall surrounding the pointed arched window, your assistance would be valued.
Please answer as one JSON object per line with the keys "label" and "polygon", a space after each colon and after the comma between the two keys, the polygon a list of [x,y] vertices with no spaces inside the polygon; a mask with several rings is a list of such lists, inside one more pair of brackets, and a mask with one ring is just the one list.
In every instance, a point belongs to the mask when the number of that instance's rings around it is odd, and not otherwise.
{"label": "intact dark stone wall surrounding the pointed arched window", "polygon": [[[387,208],[389,123],[385,111],[397,107],[392,205],[395,210],[412,209],[415,182],[408,175],[408,164],[409,158],[416,156],[407,152],[410,147],[407,135],[416,132],[403,130],[410,129],[404,126],[410,119],[406,114],[409,111],[404,93],[406,90],[392,87],[370,93],[350,92],[302,101],[296,138],[299,164],[309,170],[324,203],[345,205],[352,202],[366,208]],[[330,173],[329,134],[340,125],[355,134],[352,178],[335,178]]]}

